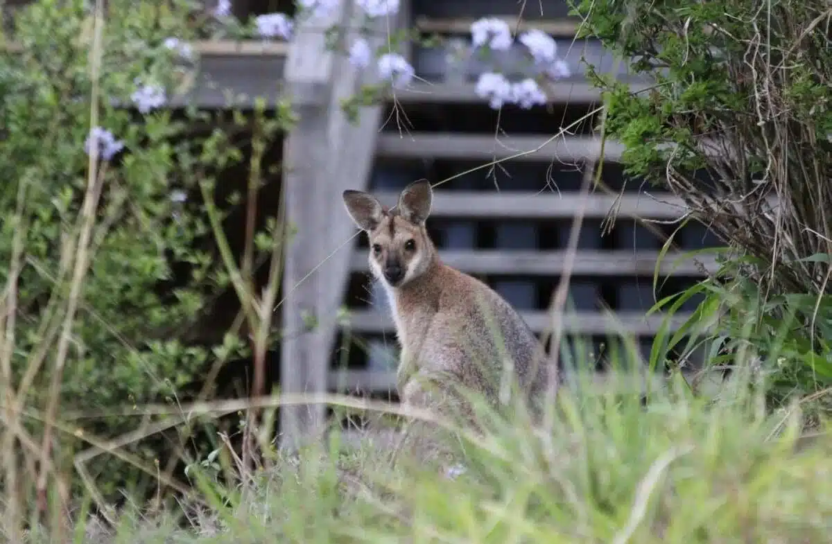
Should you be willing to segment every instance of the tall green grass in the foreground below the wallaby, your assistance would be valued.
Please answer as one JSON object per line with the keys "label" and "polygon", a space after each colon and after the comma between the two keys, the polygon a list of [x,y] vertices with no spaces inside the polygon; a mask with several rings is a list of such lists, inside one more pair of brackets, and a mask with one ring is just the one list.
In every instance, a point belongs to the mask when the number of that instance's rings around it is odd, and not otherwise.
{"label": "tall green grass in the foreground below the wallaby", "polygon": [[195,471],[180,507],[128,503],[115,526],[79,512],[66,542],[826,542],[832,441],[801,436],[800,403],[766,410],[742,372],[709,395],[672,380],[646,405],[574,378],[545,431],[476,406],[481,430],[453,433],[455,478],[333,431],[235,482]]}

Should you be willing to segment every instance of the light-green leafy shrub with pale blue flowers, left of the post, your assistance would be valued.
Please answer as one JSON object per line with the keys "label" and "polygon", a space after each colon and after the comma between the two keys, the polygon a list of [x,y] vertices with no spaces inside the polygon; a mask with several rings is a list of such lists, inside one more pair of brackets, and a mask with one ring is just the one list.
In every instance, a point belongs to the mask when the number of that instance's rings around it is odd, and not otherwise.
{"label": "light-green leafy shrub with pale blue flowers, left of the post", "polygon": [[[240,196],[215,185],[243,158],[233,136],[254,131],[266,146],[285,125],[280,107],[237,111],[233,123],[163,107],[198,62],[191,2],[108,3],[100,29],[88,2],[32,3],[15,17],[19,51],[0,57],[2,386],[37,414],[29,428],[56,407],[86,414],[59,424],[64,461],[87,446],[67,434],[74,426],[84,440],[135,429],[136,418],[89,417],[172,400],[245,352],[231,335],[192,345],[182,331],[229,285],[215,237]],[[103,483],[124,477],[112,462],[96,463]]]}

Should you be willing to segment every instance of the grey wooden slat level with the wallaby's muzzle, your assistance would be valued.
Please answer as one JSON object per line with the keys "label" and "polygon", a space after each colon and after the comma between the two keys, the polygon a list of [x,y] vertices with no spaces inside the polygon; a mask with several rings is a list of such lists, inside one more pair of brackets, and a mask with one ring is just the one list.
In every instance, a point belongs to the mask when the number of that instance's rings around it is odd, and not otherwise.
{"label": "grey wooden slat level with the wallaby's muzzle", "polygon": [[[658,255],[657,251],[646,250],[582,250],[578,251],[575,257],[572,274],[651,276],[656,269]],[[558,276],[562,273],[567,254],[564,251],[534,250],[442,250],[439,256],[446,265],[471,274]],[[659,274],[699,277],[703,275],[701,265],[704,265],[709,272],[716,270],[716,260],[713,255],[699,254],[696,256],[696,261],[689,257],[680,259],[679,254],[668,252],[661,260]],[[356,272],[368,270],[367,253],[364,250],[354,252],[352,270]]]}

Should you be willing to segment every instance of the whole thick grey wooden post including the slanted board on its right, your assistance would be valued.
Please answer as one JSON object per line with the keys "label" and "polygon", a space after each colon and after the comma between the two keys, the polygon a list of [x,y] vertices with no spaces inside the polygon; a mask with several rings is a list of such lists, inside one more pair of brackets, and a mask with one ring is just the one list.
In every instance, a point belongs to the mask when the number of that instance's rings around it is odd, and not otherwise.
{"label": "whole thick grey wooden post including the slanted board on its right", "polygon": [[[288,91],[298,106],[300,121],[286,138],[284,155],[286,217],[296,229],[286,249],[283,279],[286,334],[281,346],[280,389],[284,393],[327,390],[336,315],[352,249],[352,245],[340,250],[339,246],[354,233],[341,193],[366,185],[379,125],[378,106],[363,110],[358,126],[349,124],[339,106],[364,80],[343,55],[325,50],[326,27],[349,22],[352,2],[341,6],[343,11],[330,22],[299,25],[286,65]],[[323,101],[308,99],[321,96],[322,88]],[[307,314],[316,322],[308,331]],[[324,413],[320,405],[281,408],[281,447],[294,450],[319,438]]]}

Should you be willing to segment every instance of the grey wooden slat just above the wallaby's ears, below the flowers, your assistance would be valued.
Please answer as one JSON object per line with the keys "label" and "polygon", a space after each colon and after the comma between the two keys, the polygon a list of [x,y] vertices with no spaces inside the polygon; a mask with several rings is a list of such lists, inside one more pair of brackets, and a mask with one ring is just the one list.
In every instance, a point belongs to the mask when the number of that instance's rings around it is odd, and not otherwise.
{"label": "grey wooden slat just above the wallaby's ears, below the flowers", "polygon": [[[607,140],[605,161],[621,161],[624,146]],[[515,161],[599,161],[602,140],[594,136],[511,136],[485,134],[385,133],[379,136],[379,157],[403,159],[507,159]]]}

